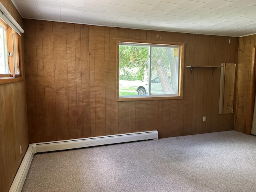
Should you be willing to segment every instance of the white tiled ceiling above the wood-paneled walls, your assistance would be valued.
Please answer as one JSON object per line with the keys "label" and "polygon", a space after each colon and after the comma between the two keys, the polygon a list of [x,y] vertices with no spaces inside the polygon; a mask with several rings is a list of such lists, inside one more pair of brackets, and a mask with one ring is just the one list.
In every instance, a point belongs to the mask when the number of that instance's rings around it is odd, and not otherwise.
{"label": "white tiled ceiling above the wood-paneled walls", "polygon": [[256,0],[12,0],[22,18],[221,36],[256,33]]}

